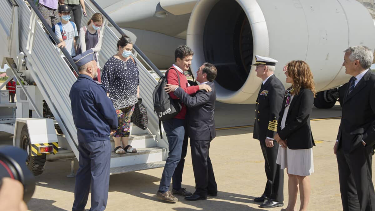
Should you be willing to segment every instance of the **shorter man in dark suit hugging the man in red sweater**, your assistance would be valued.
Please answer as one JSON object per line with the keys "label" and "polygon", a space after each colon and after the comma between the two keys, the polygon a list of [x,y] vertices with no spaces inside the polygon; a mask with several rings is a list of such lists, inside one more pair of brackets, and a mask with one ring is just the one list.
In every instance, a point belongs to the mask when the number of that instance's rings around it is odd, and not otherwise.
{"label": "shorter man in dark suit hugging the man in red sweater", "polygon": [[211,63],[204,63],[196,72],[196,80],[211,87],[211,92],[199,90],[192,96],[176,85],[167,84],[166,92],[173,92],[188,107],[187,119],[190,137],[191,157],[195,177],[195,192],[186,200],[207,199],[217,196],[217,184],[208,149],[216,136],[214,110],[216,101],[215,84],[217,70]]}

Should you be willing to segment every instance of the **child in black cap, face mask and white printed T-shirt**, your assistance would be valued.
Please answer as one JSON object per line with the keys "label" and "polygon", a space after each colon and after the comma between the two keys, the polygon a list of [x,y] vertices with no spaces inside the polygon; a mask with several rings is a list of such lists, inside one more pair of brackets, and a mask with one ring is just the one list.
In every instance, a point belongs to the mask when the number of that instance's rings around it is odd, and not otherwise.
{"label": "child in black cap, face mask and white printed T-shirt", "polygon": [[60,5],[58,7],[58,16],[61,17],[61,22],[55,25],[55,34],[60,40],[57,47],[65,47],[72,57],[77,55],[76,53],[76,42],[75,37],[78,36],[77,26],[74,22],[69,21],[71,19],[71,11],[66,5]]}

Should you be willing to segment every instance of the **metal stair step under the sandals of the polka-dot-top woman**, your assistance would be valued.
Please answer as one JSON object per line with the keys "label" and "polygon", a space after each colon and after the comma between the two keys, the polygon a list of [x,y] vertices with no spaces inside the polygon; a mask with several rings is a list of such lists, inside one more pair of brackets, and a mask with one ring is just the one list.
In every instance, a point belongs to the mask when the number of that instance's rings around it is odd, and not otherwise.
{"label": "metal stair step under the sandals of the polka-dot-top woman", "polygon": [[160,147],[138,148],[136,153],[118,155],[111,152],[111,168],[152,163],[166,159],[166,149]]}

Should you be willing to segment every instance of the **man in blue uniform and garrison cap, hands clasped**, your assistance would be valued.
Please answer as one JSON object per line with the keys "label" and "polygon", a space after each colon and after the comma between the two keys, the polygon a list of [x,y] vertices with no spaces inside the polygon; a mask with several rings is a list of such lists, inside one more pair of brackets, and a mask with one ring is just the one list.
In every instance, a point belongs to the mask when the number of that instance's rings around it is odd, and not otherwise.
{"label": "man in blue uniform and garrison cap, hands clasped", "polygon": [[73,211],[83,211],[89,197],[90,211],[102,211],[107,206],[110,184],[110,134],[118,127],[116,111],[104,86],[94,81],[98,75],[95,53],[85,51],[74,57],[80,75],[69,97],[77,128],[79,169],[75,180]]}

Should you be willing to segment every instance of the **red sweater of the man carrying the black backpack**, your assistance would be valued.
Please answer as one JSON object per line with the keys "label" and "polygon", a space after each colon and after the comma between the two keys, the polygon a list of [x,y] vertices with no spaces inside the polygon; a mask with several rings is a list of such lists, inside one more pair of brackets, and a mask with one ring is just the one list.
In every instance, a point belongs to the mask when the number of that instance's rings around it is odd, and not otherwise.
{"label": "red sweater of the man carrying the black backpack", "polygon": [[[192,95],[193,93],[199,91],[199,86],[189,86],[189,83],[187,83],[186,76],[184,74],[182,74],[180,71],[178,71],[177,69],[175,69],[174,66],[172,66],[169,69],[168,75],[166,77],[166,80],[168,81],[169,84],[178,86],[178,77],[177,77],[176,71],[174,71],[174,70],[176,70],[178,75],[180,76],[180,87],[186,93],[188,93],[189,95]],[[174,92],[169,92],[169,95],[173,99],[179,99],[176,95],[174,95]],[[182,104],[182,108],[181,108],[180,113],[178,113],[174,118],[185,119],[185,115],[186,115],[186,106],[184,104]]]}

